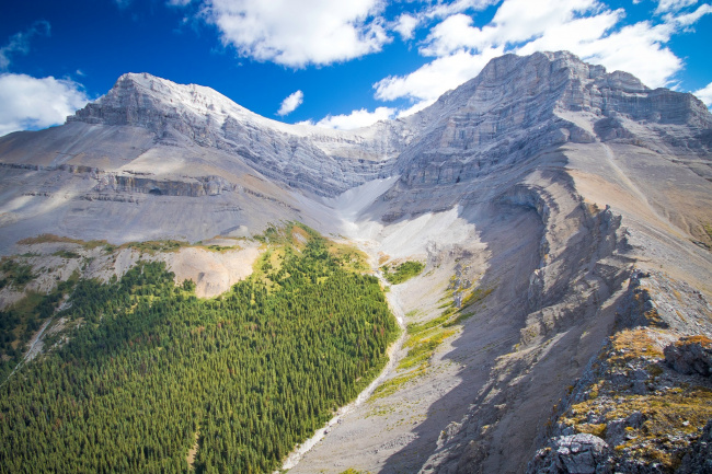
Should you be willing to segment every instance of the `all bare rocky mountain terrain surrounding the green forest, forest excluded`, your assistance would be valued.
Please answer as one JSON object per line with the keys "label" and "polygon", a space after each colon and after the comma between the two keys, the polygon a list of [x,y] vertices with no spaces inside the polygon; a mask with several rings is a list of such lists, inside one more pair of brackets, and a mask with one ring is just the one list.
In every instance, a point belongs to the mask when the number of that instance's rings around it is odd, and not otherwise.
{"label": "all bare rocky mountain terrain surrounding the green forest, forest excluded", "polygon": [[383,282],[404,330],[378,386],[292,473],[710,472],[712,114],[691,94],[506,55],[344,131],[127,73],[65,125],[0,138],[0,253],[41,274],[3,308],[120,277],[128,242],[240,238],[150,256],[218,296],[291,221],[379,275],[424,265]]}

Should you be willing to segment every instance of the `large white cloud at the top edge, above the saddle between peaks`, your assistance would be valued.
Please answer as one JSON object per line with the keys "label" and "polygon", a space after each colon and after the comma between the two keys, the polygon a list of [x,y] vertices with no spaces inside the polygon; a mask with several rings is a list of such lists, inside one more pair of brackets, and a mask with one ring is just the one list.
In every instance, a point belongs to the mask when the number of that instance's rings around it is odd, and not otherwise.
{"label": "large white cloud at the top edge, above the saddle between peaks", "polygon": [[391,41],[384,0],[207,0],[204,15],[226,45],[260,61],[329,65],[381,50]]}

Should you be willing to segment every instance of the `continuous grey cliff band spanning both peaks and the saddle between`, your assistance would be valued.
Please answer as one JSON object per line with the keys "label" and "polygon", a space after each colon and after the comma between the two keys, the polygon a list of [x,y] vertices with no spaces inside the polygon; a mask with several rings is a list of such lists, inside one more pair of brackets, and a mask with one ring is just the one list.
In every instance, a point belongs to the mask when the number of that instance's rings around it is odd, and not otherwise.
{"label": "continuous grey cliff band spanning both peaks and the saddle between", "polygon": [[[68,123],[141,127],[234,154],[290,186],[335,195],[393,174],[406,183],[468,180],[565,142],[628,142],[707,153],[712,117],[691,94],[650,90],[571,54],[504,56],[411,117],[353,132],[269,120],[198,85],[125,74]],[[642,128],[641,128],[642,127]]]}

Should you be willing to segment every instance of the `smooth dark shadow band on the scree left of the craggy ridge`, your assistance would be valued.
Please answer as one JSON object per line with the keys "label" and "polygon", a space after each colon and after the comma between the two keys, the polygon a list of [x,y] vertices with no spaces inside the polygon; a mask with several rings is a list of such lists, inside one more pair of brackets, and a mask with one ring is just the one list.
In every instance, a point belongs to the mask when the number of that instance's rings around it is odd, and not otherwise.
{"label": "smooth dark shadow band on the scree left of the craggy ridge", "polygon": [[[381,473],[415,473],[427,469],[426,462],[447,425],[461,420],[471,405],[486,397],[496,358],[512,351],[519,339],[526,317],[528,279],[539,263],[543,227],[533,209],[489,207],[486,217],[474,224],[492,255],[480,287],[494,291],[479,304],[475,315],[467,321],[453,342],[455,349],[445,356],[461,366],[462,380],[428,408],[427,418],[413,430],[413,441],[391,455]],[[513,235],[526,235],[526,239],[513,239]],[[517,278],[512,278],[513,275]]]}

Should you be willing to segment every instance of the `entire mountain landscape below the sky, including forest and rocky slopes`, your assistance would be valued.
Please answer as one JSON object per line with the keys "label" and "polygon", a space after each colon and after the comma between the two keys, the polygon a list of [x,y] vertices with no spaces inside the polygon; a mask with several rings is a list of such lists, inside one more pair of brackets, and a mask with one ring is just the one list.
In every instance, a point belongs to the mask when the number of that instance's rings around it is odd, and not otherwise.
{"label": "entire mountain landscape below the sky, including forest and rocky slopes", "polygon": [[[1,137],[0,169],[8,472],[703,463],[712,114],[691,94],[506,55],[331,130],[127,73]],[[406,327],[388,354],[368,271]]]}

